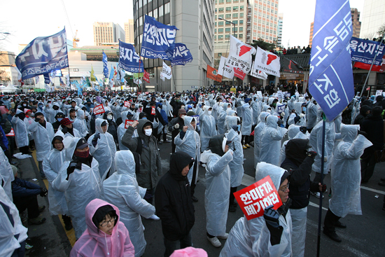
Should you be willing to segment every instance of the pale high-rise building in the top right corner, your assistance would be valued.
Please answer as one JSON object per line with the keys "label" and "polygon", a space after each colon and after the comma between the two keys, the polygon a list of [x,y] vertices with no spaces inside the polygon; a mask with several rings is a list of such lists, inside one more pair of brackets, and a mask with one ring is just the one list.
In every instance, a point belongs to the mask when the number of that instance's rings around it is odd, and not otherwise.
{"label": "pale high-rise building in the top right corner", "polygon": [[365,0],[361,22],[361,38],[377,38],[379,27],[385,24],[385,1]]}

